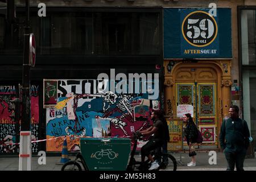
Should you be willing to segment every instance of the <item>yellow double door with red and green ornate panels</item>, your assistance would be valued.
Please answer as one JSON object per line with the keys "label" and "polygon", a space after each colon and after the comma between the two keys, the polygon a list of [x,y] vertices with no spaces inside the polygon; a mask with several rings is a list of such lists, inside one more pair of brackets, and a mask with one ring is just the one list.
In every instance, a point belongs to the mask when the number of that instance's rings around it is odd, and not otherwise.
{"label": "yellow double door with red and green ornate panels", "polygon": [[[217,147],[217,93],[215,82],[177,82],[176,105],[192,105],[193,121],[203,136],[203,146]],[[177,114],[177,109],[176,109]]]}

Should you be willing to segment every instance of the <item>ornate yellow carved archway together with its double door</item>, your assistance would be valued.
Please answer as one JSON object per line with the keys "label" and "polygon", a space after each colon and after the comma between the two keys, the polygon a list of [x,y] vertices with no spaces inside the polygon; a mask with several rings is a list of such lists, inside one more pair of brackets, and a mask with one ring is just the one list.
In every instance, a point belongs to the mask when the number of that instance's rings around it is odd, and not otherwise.
{"label": "ornate yellow carved archway together with its double door", "polygon": [[226,64],[230,65],[229,61],[178,62],[171,71],[166,69],[166,113],[176,117],[178,105],[192,105],[193,119],[204,138],[203,148],[218,148],[222,118],[228,114],[232,82],[230,70],[223,69]]}

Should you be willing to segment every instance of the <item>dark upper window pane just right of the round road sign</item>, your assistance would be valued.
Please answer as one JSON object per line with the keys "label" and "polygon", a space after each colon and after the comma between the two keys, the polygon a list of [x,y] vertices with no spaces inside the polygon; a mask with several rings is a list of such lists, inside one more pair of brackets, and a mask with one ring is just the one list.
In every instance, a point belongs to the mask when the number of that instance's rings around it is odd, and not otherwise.
{"label": "dark upper window pane just right of the round road sign", "polygon": [[42,54],[92,54],[92,30],[92,14],[51,13],[42,19]]}

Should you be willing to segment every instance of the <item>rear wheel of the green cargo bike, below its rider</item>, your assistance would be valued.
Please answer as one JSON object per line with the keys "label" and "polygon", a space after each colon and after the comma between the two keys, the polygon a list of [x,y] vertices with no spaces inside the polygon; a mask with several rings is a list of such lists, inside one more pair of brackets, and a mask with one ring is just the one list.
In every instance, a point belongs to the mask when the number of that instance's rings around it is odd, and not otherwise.
{"label": "rear wheel of the green cargo bike, below its rider", "polygon": [[158,160],[160,160],[158,161],[158,164],[160,166],[158,170],[163,169],[166,171],[176,171],[177,162],[174,156],[172,156],[171,154],[162,154],[160,155]]}

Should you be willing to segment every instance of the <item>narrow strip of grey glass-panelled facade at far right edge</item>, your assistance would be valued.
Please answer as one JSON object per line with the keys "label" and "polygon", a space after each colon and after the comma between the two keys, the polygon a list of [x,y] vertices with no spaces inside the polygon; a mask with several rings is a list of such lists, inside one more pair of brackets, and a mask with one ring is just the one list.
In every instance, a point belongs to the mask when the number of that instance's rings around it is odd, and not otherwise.
{"label": "narrow strip of grey glass-panelled facade at far right edge", "polygon": [[255,4],[238,7],[240,77],[243,118],[249,123],[251,137],[256,137],[255,127]]}

